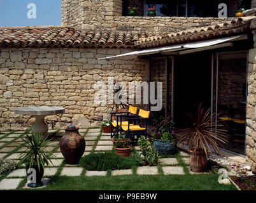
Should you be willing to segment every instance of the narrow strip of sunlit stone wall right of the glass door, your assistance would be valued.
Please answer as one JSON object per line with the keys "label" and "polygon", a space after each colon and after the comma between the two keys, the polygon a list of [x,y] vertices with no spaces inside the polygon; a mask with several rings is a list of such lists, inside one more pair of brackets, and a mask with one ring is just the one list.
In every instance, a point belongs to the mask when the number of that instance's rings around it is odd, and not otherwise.
{"label": "narrow strip of sunlit stone wall right of the glass door", "polygon": [[[252,22],[256,29],[256,20]],[[246,160],[256,173],[256,30],[253,30],[254,49],[249,50],[248,96],[246,113]]]}

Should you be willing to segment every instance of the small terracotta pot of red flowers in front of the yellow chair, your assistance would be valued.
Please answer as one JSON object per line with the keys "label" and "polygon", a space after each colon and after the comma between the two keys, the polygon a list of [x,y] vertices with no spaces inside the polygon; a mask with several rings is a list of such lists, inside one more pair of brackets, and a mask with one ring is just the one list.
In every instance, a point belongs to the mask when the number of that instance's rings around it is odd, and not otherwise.
{"label": "small terracotta pot of red flowers in front of the yellow chair", "polygon": [[117,138],[117,142],[115,143],[115,154],[122,157],[129,157],[132,150],[130,142],[131,140],[125,138],[123,135],[119,136],[119,138]]}

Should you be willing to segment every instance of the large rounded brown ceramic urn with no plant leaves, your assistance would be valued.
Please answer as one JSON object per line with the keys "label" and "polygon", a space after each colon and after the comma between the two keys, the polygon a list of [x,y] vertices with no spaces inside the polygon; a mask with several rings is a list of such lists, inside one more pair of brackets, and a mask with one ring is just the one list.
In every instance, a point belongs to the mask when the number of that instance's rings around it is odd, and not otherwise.
{"label": "large rounded brown ceramic urn with no plant leaves", "polygon": [[77,164],[85,152],[85,139],[75,126],[68,126],[60,140],[60,151],[67,164]]}

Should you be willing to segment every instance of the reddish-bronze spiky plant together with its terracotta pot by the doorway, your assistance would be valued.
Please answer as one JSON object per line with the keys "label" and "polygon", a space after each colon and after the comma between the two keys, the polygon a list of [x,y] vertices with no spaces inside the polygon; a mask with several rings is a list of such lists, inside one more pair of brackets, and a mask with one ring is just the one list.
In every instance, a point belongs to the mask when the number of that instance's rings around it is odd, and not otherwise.
{"label": "reddish-bronze spiky plant together with its terracotta pot by the doorway", "polygon": [[187,114],[194,123],[193,127],[176,132],[177,136],[180,136],[176,139],[176,141],[180,141],[178,146],[184,141],[187,141],[189,146],[193,146],[189,149],[189,164],[191,171],[197,173],[206,171],[208,151],[211,153],[213,149],[222,156],[218,147],[224,148],[224,144],[227,143],[227,131],[222,129],[221,121],[215,121],[220,114],[211,115],[210,112],[210,108],[205,111],[200,104],[196,116],[191,113]]}

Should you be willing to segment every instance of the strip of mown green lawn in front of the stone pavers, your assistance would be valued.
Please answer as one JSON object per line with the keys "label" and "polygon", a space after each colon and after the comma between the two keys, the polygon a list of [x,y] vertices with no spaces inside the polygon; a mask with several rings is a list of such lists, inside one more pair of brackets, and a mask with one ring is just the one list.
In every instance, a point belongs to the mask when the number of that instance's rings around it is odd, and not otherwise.
{"label": "strip of mown green lawn in front of the stone pavers", "polygon": [[39,190],[236,190],[236,187],[219,184],[217,174],[55,176],[46,188]]}

